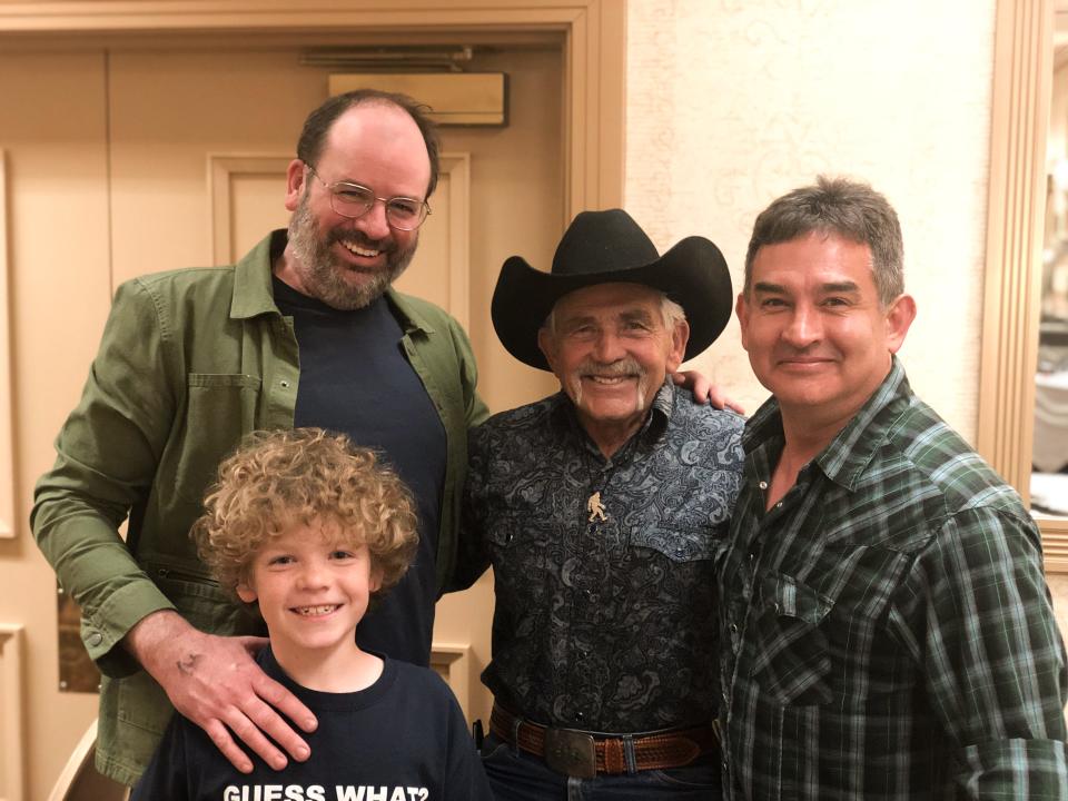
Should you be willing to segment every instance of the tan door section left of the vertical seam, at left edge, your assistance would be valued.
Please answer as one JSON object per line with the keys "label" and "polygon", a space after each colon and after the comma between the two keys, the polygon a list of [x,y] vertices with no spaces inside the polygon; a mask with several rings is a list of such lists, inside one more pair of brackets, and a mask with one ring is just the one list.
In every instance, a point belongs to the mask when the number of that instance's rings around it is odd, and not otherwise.
{"label": "tan door section left of the vertical seam, at left edge", "polygon": [[[59,691],[56,577],[30,536],[33,483],[89,372],[111,298],[103,53],[0,53],[0,170],[16,421],[13,540],[0,542],[0,798],[46,798],[96,714]],[[2,404],[0,404],[2,405]],[[20,634],[13,634],[21,630]]]}

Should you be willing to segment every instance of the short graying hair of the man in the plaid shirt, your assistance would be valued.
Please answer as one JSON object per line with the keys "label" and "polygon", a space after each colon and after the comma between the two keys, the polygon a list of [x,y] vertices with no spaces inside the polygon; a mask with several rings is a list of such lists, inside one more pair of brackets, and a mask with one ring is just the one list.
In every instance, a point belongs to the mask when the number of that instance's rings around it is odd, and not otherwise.
{"label": "short graying hair of the man in the plaid shirt", "polygon": [[745,253],[745,295],[752,288],[753,260],[760,248],[813,233],[834,234],[868,246],[883,307],[904,291],[904,245],[893,207],[868,184],[820,176],[814,186],[783,195],[756,217]]}

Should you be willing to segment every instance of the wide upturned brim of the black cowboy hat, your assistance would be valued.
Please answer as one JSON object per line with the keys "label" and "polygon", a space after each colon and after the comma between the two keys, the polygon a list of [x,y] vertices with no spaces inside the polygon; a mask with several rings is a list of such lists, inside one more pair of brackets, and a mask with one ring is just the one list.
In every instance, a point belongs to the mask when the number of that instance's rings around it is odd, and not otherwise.
{"label": "wide upturned brim of the black cowboy hat", "polygon": [[537,346],[537,332],[567,293],[596,284],[642,284],[682,306],[690,324],[684,359],[715,342],[734,305],[731,274],[720,249],[704,237],[686,237],[657,260],[642,267],[603,273],[553,275],[512,256],[501,267],[490,315],[505,349],[523,364],[550,369]]}

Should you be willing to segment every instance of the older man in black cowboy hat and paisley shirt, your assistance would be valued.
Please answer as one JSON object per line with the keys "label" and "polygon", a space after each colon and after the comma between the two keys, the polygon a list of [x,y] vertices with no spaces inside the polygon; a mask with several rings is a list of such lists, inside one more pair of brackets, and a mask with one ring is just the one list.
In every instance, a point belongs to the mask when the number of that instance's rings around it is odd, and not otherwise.
{"label": "older man in black cowboy hat and paisley shirt", "polygon": [[715,245],[661,257],[619,209],[580,214],[552,273],[517,256],[501,270],[497,336],[562,392],[471,435],[459,582],[494,568],[498,799],[719,797],[712,556],[742,418],[668,376],[731,297]]}

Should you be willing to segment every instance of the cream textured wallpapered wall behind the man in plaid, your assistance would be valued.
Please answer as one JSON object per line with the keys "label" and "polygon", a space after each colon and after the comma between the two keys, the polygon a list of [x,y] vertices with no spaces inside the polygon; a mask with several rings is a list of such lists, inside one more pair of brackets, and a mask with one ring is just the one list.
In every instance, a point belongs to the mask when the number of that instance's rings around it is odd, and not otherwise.
{"label": "cream textured wallpapered wall behind the man in plaid", "polygon": [[[898,209],[919,317],[902,357],[977,415],[993,0],[632,0],[626,206],[663,250],[715,241],[741,285],[755,215],[820,172]],[[738,326],[696,362],[755,409]]]}

